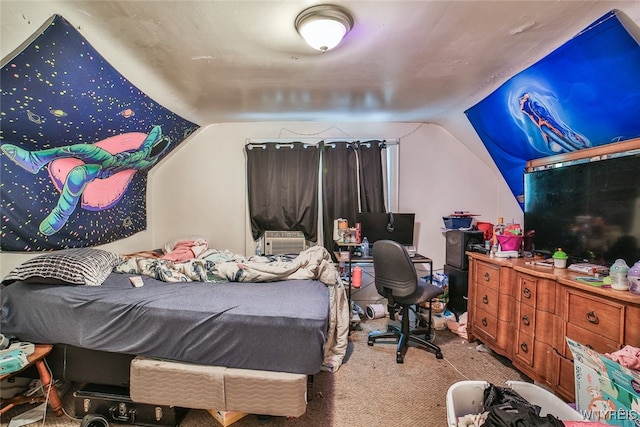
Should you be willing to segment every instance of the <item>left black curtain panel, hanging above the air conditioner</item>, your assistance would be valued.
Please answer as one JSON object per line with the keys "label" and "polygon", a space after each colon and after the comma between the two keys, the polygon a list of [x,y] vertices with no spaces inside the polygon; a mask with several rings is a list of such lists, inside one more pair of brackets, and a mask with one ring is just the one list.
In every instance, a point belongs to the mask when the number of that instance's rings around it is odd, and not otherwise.
{"label": "left black curtain panel, hanging above the air conditioner", "polygon": [[318,240],[320,150],[300,142],[245,146],[253,239],[265,230],[302,231]]}

